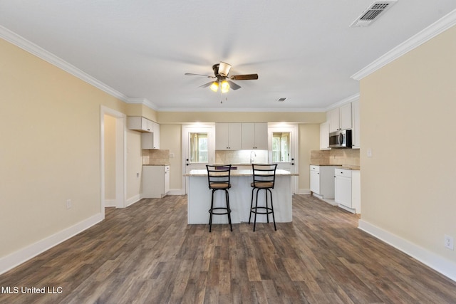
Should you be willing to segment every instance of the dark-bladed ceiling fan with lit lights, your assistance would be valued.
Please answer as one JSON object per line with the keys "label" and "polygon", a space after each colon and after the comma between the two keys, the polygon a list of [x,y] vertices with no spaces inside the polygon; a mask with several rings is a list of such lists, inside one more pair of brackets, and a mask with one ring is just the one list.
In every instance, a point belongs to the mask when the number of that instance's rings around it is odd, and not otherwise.
{"label": "dark-bladed ceiling fan with lit lights", "polygon": [[245,74],[245,75],[232,75],[229,76],[229,70],[231,69],[231,65],[228,63],[224,63],[220,61],[220,63],[216,63],[212,65],[212,70],[214,70],[214,76],[210,75],[202,75],[202,74],[193,74],[193,73],[185,73],[185,75],[195,75],[195,76],[204,76],[207,78],[217,78],[217,80],[210,81],[209,83],[205,83],[204,85],[199,85],[199,88],[207,88],[210,87],[211,90],[217,92],[220,88],[222,93],[227,93],[229,88],[233,90],[237,90],[241,88],[240,85],[232,82],[232,80],[255,80],[258,79],[258,74]]}

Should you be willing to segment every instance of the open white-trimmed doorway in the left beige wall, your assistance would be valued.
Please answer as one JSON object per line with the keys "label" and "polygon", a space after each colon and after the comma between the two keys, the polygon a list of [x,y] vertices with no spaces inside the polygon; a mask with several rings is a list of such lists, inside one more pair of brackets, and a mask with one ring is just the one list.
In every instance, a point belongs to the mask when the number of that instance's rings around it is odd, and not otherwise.
{"label": "open white-trimmed doorway in the left beige wall", "polygon": [[[100,108],[100,211],[105,206],[125,207],[126,160],[125,114],[101,106]],[[113,145],[107,145],[110,137]],[[109,142],[109,140],[108,140]],[[108,157],[106,153],[108,152]],[[108,168],[108,170],[106,170]],[[112,169],[110,169],[112,168]],[[109,174],[109,177],[107,176]],[[108,181],[108,188],[107,188]],[[113,189],[114,188],[114,189]],[[107,200],[106,192],[109,192]]]}

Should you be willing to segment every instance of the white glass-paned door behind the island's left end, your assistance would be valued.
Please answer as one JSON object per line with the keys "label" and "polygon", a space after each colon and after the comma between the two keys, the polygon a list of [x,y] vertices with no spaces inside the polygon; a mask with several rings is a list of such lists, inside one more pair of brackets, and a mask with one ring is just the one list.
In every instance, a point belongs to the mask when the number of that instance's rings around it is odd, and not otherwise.
{"label": "white glass-paned door behind the island's left end", "polygon": [[[206,169],[206,164],[213,164],[215,125],[182,125],[182,173],[191,170]],[[182,188],[188,192],[187,179],[182,177]]]}

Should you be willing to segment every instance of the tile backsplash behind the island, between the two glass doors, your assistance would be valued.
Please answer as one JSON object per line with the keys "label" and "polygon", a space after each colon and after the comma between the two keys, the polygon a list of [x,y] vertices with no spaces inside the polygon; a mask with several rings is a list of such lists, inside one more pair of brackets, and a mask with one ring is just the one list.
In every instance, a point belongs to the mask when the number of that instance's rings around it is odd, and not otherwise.
{"label": "tile backsplash behind the island, between the two glass doors", "polygon": [[215,164],[250,164],[250,157],[257,164],[268,162],[267,150],[215,151]]}

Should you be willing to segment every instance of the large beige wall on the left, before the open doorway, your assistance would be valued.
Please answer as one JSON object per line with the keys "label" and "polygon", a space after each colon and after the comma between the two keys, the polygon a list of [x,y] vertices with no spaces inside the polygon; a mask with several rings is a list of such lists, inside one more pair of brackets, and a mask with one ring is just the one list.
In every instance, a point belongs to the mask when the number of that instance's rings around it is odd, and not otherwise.
{"label": "large beige wall on the left, before the open doorway", "polygon": [[100,214],[100,105],[128,107],[1,39],[0,53],[1,258]]}

